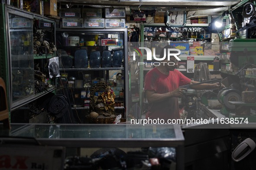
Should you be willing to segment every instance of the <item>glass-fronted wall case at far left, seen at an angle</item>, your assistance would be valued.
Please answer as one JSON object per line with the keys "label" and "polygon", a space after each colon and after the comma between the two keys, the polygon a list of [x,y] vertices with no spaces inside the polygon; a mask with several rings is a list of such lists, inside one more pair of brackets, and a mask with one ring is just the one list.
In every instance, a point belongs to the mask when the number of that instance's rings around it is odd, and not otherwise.
{"label": "glass-fronted wall case at far left, seen at an angle", "polygon": [[47,60],[55,56],[55,21],[6,4],[1,6],[6,23],[3,47],[7,49],[6,54],[1,53],[1,67],[6,69],[1,75],[8,85],[10,110],[15,110],[55,88],[47,74]]}

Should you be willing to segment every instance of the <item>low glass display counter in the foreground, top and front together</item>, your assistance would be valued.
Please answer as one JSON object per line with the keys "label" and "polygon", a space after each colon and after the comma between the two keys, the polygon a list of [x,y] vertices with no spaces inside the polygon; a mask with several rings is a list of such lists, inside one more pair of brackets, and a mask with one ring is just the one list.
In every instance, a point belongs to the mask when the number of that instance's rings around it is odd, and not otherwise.
{"label": "low glass display counter in the foreground, top and front together", "polygon": [[[118,150],[113,152],[117,159],[120,158],[118,153],[121,152],[130,159],[132,157],[133,161],[139,162],[161,157],[159,155],[162,153],[172,157],[169,157],[172,160],[170,170],[184,169],[184,137],[181,127],[176,124],[11,124],[11,127],[11,131],[0,131],[0,135],[6,135],[6,132],[10,136],[1,138],[6,144],[15,141],[24,143],[26,139],[33,139],[40,145],[80,148],[80,155],[76,156],[88,156],[87,158],[90,155],[91,158],[93,155],[96,157],[95,154],[104,149],[104,152],[115,149]],[[126,163],[128,166],[129,161],[126,160]]]}

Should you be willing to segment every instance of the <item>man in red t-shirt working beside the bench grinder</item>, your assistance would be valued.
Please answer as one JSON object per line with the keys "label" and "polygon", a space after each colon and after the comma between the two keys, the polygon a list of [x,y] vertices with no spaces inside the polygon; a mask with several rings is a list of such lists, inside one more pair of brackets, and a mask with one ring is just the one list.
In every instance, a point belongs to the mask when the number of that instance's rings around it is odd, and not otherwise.
{"label": "man in red t-shirt working beside the bench grinder", "polygon": [[[173,46],[165,46],[164,49],[174,48]],[[164,55],[164,49],[160,53],[160,57]],[[163,64],[163,62],[173,62],[174,66]],[[150,119],[178,119],[179,107],[178,98],[183,95],[183,91],[186,88],[179,88],[182,85],[188,85],[197,83],[191,81],[184,76],[180,71],[175,69],[178,66],[178,60],[174,56],[170,57],[170,60],[162,61],[162,64],[158,67],[150,70],[145,77],[144,90],[146,91],[146,97],[149,102],[148,112],[146,118]],[[212,88],[220,88],[218,83],[214,84],[200,84],[193,86],[194,89],[204,90]]]}

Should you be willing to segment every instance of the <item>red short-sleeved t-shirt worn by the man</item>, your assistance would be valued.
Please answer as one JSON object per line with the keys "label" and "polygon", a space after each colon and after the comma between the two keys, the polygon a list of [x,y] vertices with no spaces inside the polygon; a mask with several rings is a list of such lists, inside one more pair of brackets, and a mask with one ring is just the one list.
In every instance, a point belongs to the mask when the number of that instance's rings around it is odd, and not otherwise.
{"label": "red short-sleeved t-shirt worn by the man", "polygon": [[[152,90],[156,93],[163,94],[174,91],[181,85],[187,85],[191,82],[180,71],[174,69],[169,75],[162,74],[157,68],[150,70],[145,77],[144,90]],[[179,107],[178,98],[168,98],[164,101],[149,103],[146,118],[150,119],[178,119]],[[165,122],[166,123],[166,122]]]}

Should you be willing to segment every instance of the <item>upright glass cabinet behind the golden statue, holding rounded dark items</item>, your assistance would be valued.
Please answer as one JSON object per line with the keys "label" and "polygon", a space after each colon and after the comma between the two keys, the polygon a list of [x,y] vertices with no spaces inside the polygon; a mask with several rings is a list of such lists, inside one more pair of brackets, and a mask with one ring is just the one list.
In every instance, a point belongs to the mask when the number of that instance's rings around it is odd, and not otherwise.
{"label": "upright glass cabinet behind the golden statue, holding rounded dark items", "polygon": [[[115,93],[115,114],[126,117],[127,107],[127,30],[124,28],[56,29],[60,75],[58,94],[68,91],[71,107],[80,117],[89,112],[90,89],[98,82]],[[86,123],[86,122],[85,122]]]}

